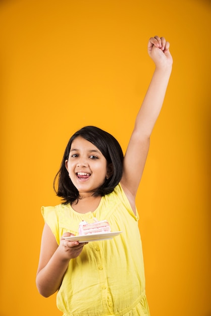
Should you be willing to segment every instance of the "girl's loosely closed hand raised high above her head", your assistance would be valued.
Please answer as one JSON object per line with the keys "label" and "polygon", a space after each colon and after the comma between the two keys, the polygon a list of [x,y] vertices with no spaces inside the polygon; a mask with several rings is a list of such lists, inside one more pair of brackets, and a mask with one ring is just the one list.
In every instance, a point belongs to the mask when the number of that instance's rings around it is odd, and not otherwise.
{"label": "girl's loosely closed hand raised high above her head", "polygon": [[173,59],[169,51],[170,43],[165,37],[154,36],[149,38],[148,54],[157,68],[172,66]]}

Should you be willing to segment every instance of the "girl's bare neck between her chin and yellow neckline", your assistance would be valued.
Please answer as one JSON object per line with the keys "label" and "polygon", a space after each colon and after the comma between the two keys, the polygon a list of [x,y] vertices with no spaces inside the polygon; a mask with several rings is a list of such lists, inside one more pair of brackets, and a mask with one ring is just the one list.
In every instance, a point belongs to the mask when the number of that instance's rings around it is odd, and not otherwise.
{"label": "girl's bare neck between her chin and yellow neckline", "polygon": [[74,201],[71,206],[78,213],[94,212],[101,200],[101,196],[85,195]]}

